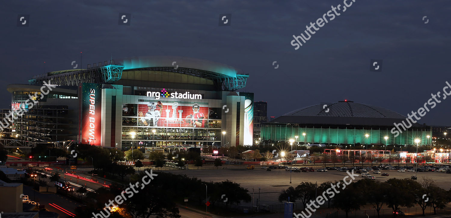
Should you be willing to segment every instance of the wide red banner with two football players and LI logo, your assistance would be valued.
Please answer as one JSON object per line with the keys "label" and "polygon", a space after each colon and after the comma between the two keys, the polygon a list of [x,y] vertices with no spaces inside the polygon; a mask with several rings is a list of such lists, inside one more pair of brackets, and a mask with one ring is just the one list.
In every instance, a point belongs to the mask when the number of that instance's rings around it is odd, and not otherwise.
{"label": "wide red banner with two football players and LI logo", "polygon": [[[186,105],[186,104],[184,104]],[[138,105],[138,125],[166,127],[207,127],[208,107],[179,106],[178,102],[152,101]]]}

